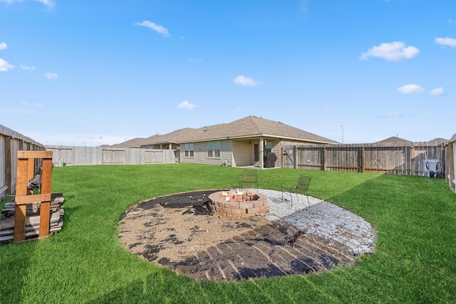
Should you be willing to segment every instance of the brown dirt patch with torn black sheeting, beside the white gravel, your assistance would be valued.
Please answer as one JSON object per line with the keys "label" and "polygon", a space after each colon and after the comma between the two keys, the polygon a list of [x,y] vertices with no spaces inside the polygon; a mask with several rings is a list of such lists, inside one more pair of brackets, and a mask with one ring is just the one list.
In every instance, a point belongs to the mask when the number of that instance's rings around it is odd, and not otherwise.
{"label": "brown dirt patch with torn black sheeting, beside the white gravel", "polygon": [[160,196],[136,204],[119,223],[125,248],[197,280],[321,273],[353,263],[336,240],[306,234],[264,216],[213,216],[207,196],[217,190]]}

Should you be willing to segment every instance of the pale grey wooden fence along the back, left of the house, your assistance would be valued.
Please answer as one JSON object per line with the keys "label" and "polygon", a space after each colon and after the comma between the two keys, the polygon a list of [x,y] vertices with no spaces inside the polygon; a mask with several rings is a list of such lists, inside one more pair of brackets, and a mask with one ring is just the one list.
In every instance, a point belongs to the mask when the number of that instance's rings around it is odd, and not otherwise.
{"label": "pale grey wooden fence along the back, left of the house", "polygon": [[173,150],[113,147],[46,146],[53,152],[55,166],[78,166],[93,164],[172,164]]}

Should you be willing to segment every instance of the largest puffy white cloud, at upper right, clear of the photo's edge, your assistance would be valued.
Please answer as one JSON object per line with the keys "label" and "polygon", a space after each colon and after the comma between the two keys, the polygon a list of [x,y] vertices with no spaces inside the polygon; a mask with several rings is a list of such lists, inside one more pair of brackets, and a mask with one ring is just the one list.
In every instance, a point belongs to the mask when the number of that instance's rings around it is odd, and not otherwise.
{"label": "largest puffy white cloud, at upper right, clear of the photo's edge", "polygon": [[380,46],[369,48],[366,53],[361,54],[360,59],[367,60],[369,57],[383,58],[385,61],[400,61],[410,59],[418,55],[420,50],[415,46],[405,46],[405,43],[394,41],[380,43]]}

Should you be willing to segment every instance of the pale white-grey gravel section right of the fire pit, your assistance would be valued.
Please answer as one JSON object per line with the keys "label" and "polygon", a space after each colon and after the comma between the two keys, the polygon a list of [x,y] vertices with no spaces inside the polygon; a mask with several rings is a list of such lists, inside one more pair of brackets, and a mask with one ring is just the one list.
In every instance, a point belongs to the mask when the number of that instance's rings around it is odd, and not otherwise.
{"label": "pale white-grey gravel section right of the fire pit", "polygon": [[351,211],[312,196],[293,194],[291,204],[289,193],[284,193],[282,198],[282,192],[275,190],[258,189],[257,192],[268,197],[269,211],[265,216],[271,221],[286,221],[328,243],[341,242],[353,255],[370,253],[375,248],[375,229]]}

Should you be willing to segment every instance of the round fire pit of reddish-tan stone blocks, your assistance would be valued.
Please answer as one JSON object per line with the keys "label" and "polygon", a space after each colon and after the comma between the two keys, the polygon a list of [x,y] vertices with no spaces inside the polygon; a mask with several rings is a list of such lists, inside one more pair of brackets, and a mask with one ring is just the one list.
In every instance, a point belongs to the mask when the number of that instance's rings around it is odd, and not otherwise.
{"label": "round fire pit of reddish-tan stone blocks", "polygon": [[268,211],[267,197],[257,192],[219,191],[209,194],[208,201],[216,216],[247,217]]}

